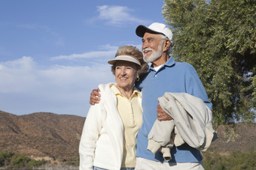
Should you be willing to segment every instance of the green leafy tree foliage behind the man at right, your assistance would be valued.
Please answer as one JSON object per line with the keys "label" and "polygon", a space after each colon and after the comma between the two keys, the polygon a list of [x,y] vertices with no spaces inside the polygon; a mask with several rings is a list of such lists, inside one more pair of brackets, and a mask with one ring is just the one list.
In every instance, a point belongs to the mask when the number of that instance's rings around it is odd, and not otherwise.
{"label": "green leafy tree foliage behind the man at right", "polygon": [[192,64],[213,103],[215,124],[254,121],[256,1],[165,0],[173,56]]}

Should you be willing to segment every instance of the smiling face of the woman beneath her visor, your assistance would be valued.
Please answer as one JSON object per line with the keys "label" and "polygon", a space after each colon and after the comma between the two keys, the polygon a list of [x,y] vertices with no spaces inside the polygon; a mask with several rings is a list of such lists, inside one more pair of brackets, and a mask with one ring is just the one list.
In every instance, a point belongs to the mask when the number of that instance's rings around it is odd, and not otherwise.
{"label": "smiling face of the woman beneath her visor", "polygon": [[129,61],[117,61],[115,67],[115,81],[120,88],[131,90],[138,75],[137,66]]}

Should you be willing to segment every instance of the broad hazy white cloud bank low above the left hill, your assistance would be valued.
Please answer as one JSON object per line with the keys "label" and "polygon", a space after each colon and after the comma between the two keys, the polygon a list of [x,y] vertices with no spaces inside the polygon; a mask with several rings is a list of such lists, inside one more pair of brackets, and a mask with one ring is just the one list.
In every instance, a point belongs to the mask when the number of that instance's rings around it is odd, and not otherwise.
{"label": "broad hazy white cloud bank low above the left hill", "polygon": [[40,67],[32,57],[0,62],[0,110],[85,116],[92,89],[114,81],[109,64]]}

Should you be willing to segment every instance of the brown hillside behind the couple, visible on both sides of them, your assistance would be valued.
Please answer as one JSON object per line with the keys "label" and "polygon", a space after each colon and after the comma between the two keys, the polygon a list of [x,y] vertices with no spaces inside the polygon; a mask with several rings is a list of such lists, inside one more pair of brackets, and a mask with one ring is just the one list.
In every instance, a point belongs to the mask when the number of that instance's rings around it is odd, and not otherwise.
{"label": "brown hillside behind the couple, visible on both sides of them", "polygon": [[[85,118],[36,112],[13,115],[0,111],[0,151],[11,151],[59,164],[78,163],[78,145]],[[220,126],[218,139],[207,152],[228,155],[256,149],[256,124]]]}

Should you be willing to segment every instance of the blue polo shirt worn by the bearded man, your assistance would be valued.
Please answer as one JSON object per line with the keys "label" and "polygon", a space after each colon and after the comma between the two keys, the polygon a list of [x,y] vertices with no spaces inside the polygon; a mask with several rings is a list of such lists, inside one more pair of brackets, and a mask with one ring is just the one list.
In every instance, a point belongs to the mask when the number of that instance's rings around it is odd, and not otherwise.
{"label": "blue polo shirt worn by the bearded man", "polygon": [[[200,97],[210,109],[212,109],[212,103],[194,67],[185,62],[175,62],[172,57],[158,71],[150,67],[148,75],[137,83],[136,87],[142,90],[143,109],[143,123],[137,137],[136,157],[163,162],[163,155],[159,151],[153,154],[147,150],[148,133],[154,121],[157,120],[157,98],[162,97],[165,92],[184,92]],[[171,154],[170,162],[193,163],[202,160],[200,151],[187,144],[174,146]]]}

